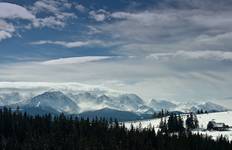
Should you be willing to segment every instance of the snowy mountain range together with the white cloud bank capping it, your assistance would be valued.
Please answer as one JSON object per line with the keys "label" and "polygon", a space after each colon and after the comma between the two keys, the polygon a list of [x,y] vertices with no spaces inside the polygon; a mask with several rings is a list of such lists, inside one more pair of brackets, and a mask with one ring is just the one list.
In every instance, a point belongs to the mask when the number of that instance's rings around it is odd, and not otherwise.
{"label": "snowy mountain range together with the white cloud bank capping it", "polygon": [[[24,84],[24,86],[23,86]],[[66,113],[81,116],[124,116],[138,119],[162,109],[190,112],[197,110],[226,111],[211,102],[171,102],[168,100],[143,100],[136,94],[122,93],[104,87],[88,87],[84,84],[5,83],[0,88],[0,105],[16,108],[32,114]],[[104,115],[103,115],[104,114]],[[123,114],[123,115],[122,115]]]}

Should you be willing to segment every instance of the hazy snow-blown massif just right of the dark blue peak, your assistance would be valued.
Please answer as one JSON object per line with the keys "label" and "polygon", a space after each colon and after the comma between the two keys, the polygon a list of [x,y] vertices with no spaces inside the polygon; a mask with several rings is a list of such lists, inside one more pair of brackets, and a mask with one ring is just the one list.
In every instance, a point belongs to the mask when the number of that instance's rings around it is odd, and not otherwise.
{"label": "hazy snow-blown massif just right of the dark blue peak", "polygon": [[99,110],[102,108],[111,108],[122,111],[132,111],[136,113],[150,113],[154,111],[148,107],[145,102],[135,94],[121,94],[119,96],[96,95],[90,92],[83,92],[70,97],[80,107],[81,112],[89,110]]}

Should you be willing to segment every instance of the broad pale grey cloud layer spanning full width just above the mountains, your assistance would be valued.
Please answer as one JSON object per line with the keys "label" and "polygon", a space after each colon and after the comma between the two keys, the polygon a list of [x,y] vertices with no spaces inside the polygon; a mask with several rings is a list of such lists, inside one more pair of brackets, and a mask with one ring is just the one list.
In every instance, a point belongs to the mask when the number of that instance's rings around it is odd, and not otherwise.
{"label": "broad pale grey cloud layer spanning full width just above the mountains", "polygon": [[[1,64],[0,81],[82,82],[136,93],[147,100],[157,98],[201,101],[230,96],[231,93],[231,65],[222,67],[214,63],[194,61],[198,67],[192,68],[184,61],[182,65],[186,65],[188,69],[178,70],[172,66],[173,63],[153,63],[139,58],[104,60],[85,58],[80,63],[79,58],[61,58],[47,64],[44,61],[5,66]],[[201,66],[205,68],[199,69]]]}

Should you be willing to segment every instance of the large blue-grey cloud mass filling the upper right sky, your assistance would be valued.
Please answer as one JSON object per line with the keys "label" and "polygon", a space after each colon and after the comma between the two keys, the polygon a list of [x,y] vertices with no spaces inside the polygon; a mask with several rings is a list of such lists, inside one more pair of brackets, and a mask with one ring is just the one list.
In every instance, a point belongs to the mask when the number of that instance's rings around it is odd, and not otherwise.
{"label": "large blue-grey cloud mass filling the upper right sky", "polygon": [[101,31],[98,34],[111,37],[109,40],[124,42],[113,50],[117,54],[232,49],[232,11],[227,9],[231,3],[175,2],[162,1],[145,10],[108,12],[101,19],[104,23],[95,28]]}

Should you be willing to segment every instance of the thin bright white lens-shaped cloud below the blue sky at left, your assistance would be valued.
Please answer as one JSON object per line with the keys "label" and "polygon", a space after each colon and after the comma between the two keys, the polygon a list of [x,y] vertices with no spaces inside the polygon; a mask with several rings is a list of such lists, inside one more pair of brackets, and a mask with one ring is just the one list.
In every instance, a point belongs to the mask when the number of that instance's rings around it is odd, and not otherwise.
{"label": "thin bright white lens-shaped cloud below the blue sky at left", "polygon": [[84,57],[69,57],[48,60],[42,62],[43,65],[67,65],[67,64],[83,64],[88,62],[96,62],[112,58],[111,56],[84,56]]}

